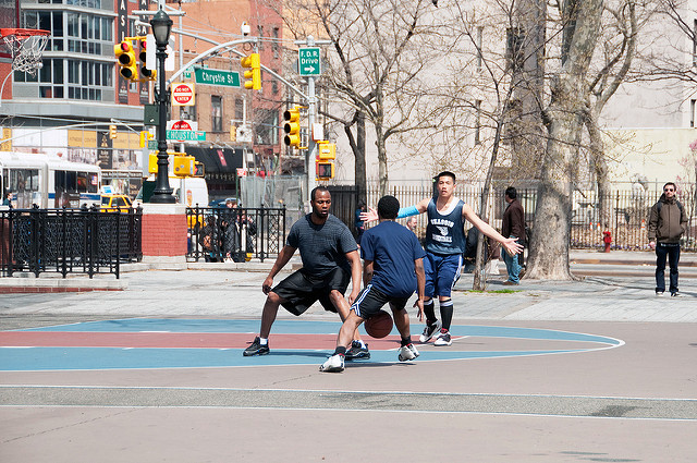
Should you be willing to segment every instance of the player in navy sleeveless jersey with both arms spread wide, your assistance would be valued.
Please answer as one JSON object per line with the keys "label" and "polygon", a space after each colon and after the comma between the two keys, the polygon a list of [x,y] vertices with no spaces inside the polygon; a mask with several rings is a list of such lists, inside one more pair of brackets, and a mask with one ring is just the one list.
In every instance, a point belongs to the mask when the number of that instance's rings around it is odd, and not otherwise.
{"label": "player in navy sleeveless jersey with both arms spread wide", "polygon": [[[420,342],[428,342],[433,337],[433,345],[451,345],[450,325],[453,319],[452,288],[460,278],[462,255],[465,251],[465,219],[469,220],[479,231],[501,243],[510,255],[523,251],[517,239],[503,237],[491,226],[481,220],[472,207],[454,196],[455,174],[441,172],[436,178],[438,195],[433,198],[421,199],[415,206],[400,209],[399,218],[428,214],[426,226],[426,258],[424,271],[426,273],[426,298],[424,314],[426,327]],[[375,209],[365,215],[365,220],[377,218]],[[438,296],[440,319],[436,317],[433,297]]]}

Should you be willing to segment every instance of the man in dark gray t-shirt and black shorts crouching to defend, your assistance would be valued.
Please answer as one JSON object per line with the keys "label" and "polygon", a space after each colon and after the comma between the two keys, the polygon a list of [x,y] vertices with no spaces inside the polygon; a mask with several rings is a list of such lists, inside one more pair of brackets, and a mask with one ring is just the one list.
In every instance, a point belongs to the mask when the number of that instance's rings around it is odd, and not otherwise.
{"label": "man in dark gray t-shirt and black shorts crouching to defend", "polygon": [[[299,316],[319,301],[326,310],[339,312],[344,320],[360,291],[360,258],[356,242],[348,228],[329,214],[329,191],[325,186],[313,190],[310,204],[313,212],[291,227],[285,246],[264,280],[261,290],[267,298],[261,313],[261,328],[259,336],[243,352],[244,356],[269,353],[268,338],[280,305]],[[272,288],[273,277],[293,257],[295,249],[301,252],[303,268]],[[344,293],[348,281],[352,282],[352,291],[346,302]],[[362,346],[357,348],[360,354],[356,357],[369,357],[357,330],[354,340]]]}

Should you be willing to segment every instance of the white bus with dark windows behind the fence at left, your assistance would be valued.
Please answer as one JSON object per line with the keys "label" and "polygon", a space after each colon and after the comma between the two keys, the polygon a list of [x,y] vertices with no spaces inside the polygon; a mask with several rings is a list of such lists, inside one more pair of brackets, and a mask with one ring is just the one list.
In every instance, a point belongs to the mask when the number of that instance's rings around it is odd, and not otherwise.
{"label": "white bus with dark windows behind the fence at left", "polygon": [[[98,166],[65,161],[57,156],[0,151],[3,205],[19,209],[81,207],[100,204]],[[11,199],[9,199],[11,197]]]}

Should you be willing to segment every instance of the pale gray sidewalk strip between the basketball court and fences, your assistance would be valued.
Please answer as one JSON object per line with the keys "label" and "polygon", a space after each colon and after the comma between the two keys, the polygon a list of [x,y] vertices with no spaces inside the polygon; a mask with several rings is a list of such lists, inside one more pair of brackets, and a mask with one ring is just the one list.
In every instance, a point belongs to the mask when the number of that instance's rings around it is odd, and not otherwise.
{"label": "pale gray sidewalk strip between the basketball court and fences", "polygon": [[[619,253],[616,253],[619,254]],[[653,292],[653,265],[650,255],[625,256],[636,264],[577,264],[601,257],[597,253],[575,253],[572,271],[587,275],[573,281],[522,280],[518,287],[504,287],[505,268],[487,277],[487,291],[472,292],[473,275],[463,275],[455,285],[455,318],[500,320],[602,320],[602,321],[681,321],[697,322],[697,278],[689,269],[681,271],[678,298]],[[603,256],[604,257],[604,256]],[[695,260],[688,256],[685,260]],[[644,261],[646,260],[646,261]],[[607,263],[608,260],[606,260]],[[241,270],[239,268],[248,268]],[[266,296],[260,290],[271,261],[264,264],[192,264],[186,270],[124,271],[120,280],[113,276],[38,279],[47,283],[74,284],[81,292],[54,294],[47,291],[0,297],[0,314],[78,314],[107,316],[193,316],[258,318]],[[276,278],[289,275],[289,265]],[[622,270],[631,271],[624,276]],[[603,272],[604,270],[604,272]],[[601,276],[594,276],[594,272]],[[694,275],[694,273],[693,273]],[[8,281],[10,280],[10,281]],[[0,283],[16,284],[4,278]],[[65,282],[69,281],[69,282]],[[119,291],[94,291],[113,285]],[[91,291],[90,291],[91,290]],[[334,319],[334,314],[313,307],[308,316]],[[284,310],[279,317],[294,318]]]}

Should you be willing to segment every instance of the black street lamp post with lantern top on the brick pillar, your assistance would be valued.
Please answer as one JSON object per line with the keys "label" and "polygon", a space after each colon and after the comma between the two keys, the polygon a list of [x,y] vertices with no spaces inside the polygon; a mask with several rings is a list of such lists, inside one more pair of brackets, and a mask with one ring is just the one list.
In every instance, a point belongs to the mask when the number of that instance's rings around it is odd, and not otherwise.
{"label": "black street lamp post with lantern top on the brick pillar", "polygon": [[159,105],[159,125],[157,130],[157,179],[155,191],[150,203],[173,204],[176,198],[172,196],[169,179],[169,159],[167,155],[167,80],[164,78],[164,60],[167,59],[167,44],[170,40],[172,31],[172,20],[163,11],[158,10],[150,20],[155,44],[157,45],[157,76],[158,93],[157,102]]}

